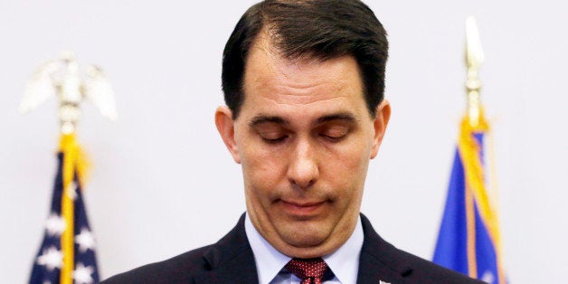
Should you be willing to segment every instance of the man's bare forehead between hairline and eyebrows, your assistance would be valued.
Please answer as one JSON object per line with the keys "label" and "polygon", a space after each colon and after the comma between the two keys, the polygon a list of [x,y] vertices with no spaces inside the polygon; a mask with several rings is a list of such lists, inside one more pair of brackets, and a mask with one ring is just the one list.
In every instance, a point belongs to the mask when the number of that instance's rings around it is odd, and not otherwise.
{"label": "man's bare forehead between hairline and eyebrows", "polygon": [[353,57],[288,59],[262,35],[251,46],[243,83],[241,112],[358,112],[365,107]]}

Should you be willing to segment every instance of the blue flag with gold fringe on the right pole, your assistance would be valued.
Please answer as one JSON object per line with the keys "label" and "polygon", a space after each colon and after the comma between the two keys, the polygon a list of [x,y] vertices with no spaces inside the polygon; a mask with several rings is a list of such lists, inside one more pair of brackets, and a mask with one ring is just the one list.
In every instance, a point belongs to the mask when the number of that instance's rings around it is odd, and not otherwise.
{"label": "blue flag with gold fringe on the right pole", "polygon": [[461,123],[458,149],[433,261],[488,283],[506,283],[497,211],[487,192],[484,119]]}

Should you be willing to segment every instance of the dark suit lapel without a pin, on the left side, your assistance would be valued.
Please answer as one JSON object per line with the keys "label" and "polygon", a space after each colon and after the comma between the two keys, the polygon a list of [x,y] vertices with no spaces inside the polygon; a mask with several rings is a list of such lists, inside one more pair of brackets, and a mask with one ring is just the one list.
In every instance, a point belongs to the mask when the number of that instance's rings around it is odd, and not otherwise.
{"label": "dark suit lapel without a pin, on the left side", "polygon": [[211,268],[195,277],[196,283],[258,283],[251,245],[244,231],[244,214],[237,225],[204,252]]}

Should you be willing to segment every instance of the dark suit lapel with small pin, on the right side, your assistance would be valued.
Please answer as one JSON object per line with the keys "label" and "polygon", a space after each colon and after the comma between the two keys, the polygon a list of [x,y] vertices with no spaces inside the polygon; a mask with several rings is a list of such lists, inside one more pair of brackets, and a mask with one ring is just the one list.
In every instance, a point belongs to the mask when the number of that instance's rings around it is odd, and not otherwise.
{"label": "dark suit lapel with small pin, on the right side", "polygon": [[405,266],[398,250],[374,232],[371,222],[361,214],[364,241],[359,258],[357,283],[400,283],[403,277],[412,272]]}

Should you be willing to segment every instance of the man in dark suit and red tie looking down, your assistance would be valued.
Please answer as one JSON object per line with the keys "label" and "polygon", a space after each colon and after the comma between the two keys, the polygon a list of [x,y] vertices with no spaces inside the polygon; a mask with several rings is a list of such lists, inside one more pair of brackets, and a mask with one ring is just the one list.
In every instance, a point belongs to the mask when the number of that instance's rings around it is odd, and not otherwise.
{"label": "man in dark suit and red tie looking down", "polygon": [[247,212],[221,241],[109,283],[469,283],[399,251],[359,213],[391,109],[388,43],[358,0],[267,0],[225,46],[215,123]]}

